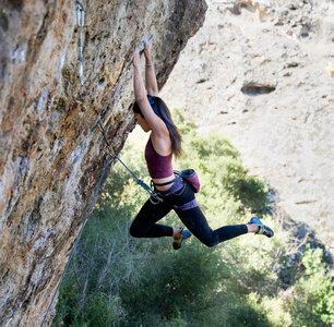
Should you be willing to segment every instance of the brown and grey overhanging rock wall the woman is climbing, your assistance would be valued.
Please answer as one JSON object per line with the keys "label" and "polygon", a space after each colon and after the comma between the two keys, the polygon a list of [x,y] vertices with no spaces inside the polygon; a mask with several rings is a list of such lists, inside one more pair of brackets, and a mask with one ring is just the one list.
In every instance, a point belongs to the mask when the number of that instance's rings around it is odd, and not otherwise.
{"label": "brown and grey overhanging rock wall the woman is climbing", "polygon": [[[133,129],[132,53],[152,37],[159,86],[201,27],[198,0],[0,4],[0,325],[39,326],[107,160]],[[50,319],[48,320],[48,324]]]}

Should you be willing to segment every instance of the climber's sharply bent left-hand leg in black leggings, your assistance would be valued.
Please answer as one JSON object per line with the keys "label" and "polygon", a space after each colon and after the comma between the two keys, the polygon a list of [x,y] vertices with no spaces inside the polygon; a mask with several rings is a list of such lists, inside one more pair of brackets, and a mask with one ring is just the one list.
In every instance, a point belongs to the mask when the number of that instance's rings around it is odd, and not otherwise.
{"label": "climber's sharply bent left-hand leg in black leggings", "polygon": [[171,237],[172,228],[156,223],[170,211],[170,207],[163,202],[153,204],[150,199],[146,201],[131,227],[130,234],[133,238],[162,238]]}

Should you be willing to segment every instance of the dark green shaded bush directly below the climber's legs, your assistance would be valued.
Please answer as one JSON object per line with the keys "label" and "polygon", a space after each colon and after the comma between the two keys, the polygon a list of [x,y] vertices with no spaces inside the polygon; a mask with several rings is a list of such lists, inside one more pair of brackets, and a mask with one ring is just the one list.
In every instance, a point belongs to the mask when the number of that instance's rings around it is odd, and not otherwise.
{"label": "dark green shaded bush directly below the climber's legs", "polygon": [[157,326],[152,318],[147,320],[147,314],[169,320],[180,312],[206,307],[215,298],[223,270],[217,251],[188,244],[182,254],[167,252],[151,257],[139,286],[123,284],[122,301],[133,320]]}

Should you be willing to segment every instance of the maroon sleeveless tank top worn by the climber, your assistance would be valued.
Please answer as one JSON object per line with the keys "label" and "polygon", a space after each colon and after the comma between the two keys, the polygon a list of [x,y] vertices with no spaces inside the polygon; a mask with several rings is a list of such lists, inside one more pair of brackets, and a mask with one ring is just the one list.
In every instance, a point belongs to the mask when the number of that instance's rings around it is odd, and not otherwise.
{"label": "maroon sleeveless tank top worn by the climber", "polygon": [[172,175],[171,157],[172,154],[168,156],[160,156],[157,154],[153,147],[151,137],[148,138],[145,147],[145,159],[150,175],[153,179],[164,179]]}

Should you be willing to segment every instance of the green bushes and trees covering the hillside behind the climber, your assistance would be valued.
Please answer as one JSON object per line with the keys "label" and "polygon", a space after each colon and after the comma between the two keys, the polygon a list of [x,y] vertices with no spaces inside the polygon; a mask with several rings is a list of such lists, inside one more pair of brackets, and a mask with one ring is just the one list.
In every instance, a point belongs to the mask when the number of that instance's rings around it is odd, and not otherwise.
{"label": "green bushes and trees covering the hillside behind the climber", "polygon": [[[269,186],[248,173],[219,133],[200,137],[194,124],[174,116],[184,149],[175,169],[196,170],[210,225],[246,223],[257,214],[275,237],[248,234],[212,249],[191,238],[179,251],[169,238],[133,239],[129,227],[147,194],[116,164],[61,287],[52,326],[331,326],[333,281],[322,250],[302,247],[301,261],[287,269],[291,240],[273,219]],[[136,134],[121,154],[141,178],[147,175],[145,142]],[[164,222],[181,226],[175,214]],[[288,284],[279,279],[283,269]]]}

